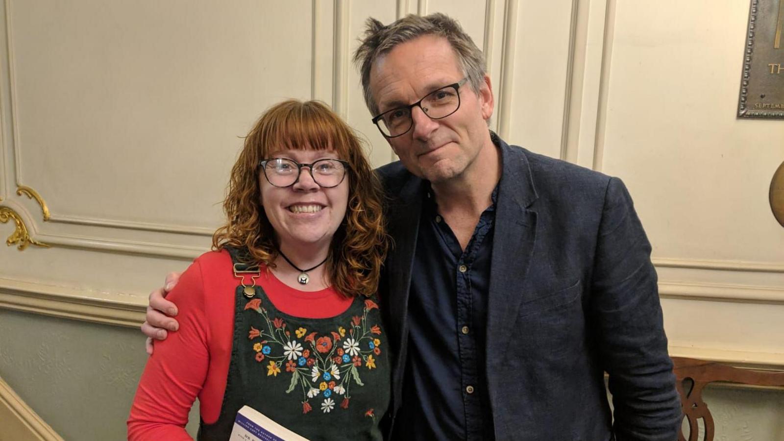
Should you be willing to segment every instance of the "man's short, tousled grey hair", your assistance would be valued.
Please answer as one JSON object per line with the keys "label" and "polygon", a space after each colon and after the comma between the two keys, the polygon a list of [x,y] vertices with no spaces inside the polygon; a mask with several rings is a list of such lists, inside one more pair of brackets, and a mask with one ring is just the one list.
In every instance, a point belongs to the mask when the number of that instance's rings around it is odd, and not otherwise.
{"label": "man's short, tousled grey hair", "polygon": [[437,35],[447,39],[455,51],[458,66],[468,78],[468,84],[474,89],[474,93],[479,93],[487,71],[485,56],[457,20],[442,13],[427,16],[408,14],[384,26],[379,20],[370,17],[365,22],[365,38],[360,39],[361,45],[354,53],[354,64],[360,69],[365,104],[372,115],[379,113],[379,107],[370,91],[371,67],[379,57],[389,53],[395,46],[423,35]]}

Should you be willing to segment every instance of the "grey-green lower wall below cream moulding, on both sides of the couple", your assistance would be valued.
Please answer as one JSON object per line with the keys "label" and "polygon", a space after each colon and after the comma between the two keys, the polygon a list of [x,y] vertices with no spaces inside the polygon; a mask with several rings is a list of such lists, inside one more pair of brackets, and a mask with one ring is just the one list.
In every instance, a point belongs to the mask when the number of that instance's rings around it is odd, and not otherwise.
{"label": "grey-green lower wall below cream moulding, on both sides of the couple", "polygon": [[[139,330],[0,309],[0,377],[64,439],[125,439],[146,360]],[[717,441],[784,439],[784,391],[703,393]],[[198,403],[190,421],[195,436]]]}

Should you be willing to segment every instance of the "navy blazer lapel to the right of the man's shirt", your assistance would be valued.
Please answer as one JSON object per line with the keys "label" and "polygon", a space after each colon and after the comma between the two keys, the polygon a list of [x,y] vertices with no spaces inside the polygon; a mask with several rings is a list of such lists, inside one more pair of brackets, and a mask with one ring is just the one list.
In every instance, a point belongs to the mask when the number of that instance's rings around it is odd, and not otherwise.
{"label": "navy blazer lapel to the right of the man's shirt", "polygon": [[495,339],[494,347],[504,348],[522,301],[533,294],[521,286],[536,239],[536,212],[529,207],[537,195],[522,149],[510,148],[503,140],[499,144],[503,173],[495,204],[487,335]]}

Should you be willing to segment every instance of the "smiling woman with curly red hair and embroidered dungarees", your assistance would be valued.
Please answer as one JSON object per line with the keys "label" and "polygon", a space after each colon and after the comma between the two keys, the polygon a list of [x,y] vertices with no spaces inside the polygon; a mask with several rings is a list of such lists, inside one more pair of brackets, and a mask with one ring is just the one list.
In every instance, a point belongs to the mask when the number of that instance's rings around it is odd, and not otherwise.
{"label": "smiling woman with curly red hair and embroidered dungarees", "polygon": [[390,399],[375,297],[387,252],[378,181],[324,104],[268,109],[245,138],[213,250],[169,296],[180,330],[155,345],[129,439],[228,439],[242,406],[308,439],[381,439]]}

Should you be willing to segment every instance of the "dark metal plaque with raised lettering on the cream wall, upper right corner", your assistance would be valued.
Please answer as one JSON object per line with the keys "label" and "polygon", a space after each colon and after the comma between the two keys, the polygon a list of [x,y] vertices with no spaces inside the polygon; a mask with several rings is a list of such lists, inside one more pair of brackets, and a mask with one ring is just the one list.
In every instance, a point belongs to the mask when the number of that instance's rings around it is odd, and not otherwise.
{"label": "dark metal plaque with raised lettering on the cream wall, upper right corner", "polygon": [[751,0],[740,118],[784,118],[784,0]]}

